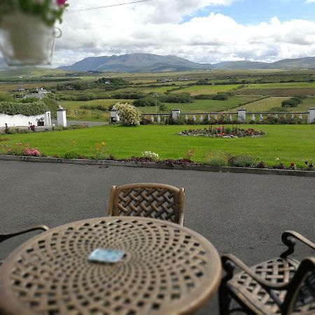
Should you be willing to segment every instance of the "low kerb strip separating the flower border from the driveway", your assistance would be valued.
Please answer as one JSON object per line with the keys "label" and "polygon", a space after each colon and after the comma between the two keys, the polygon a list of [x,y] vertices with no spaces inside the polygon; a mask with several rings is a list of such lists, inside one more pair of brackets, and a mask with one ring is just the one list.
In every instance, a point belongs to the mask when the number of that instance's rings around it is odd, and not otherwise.
{"label": "low kerb strip separating the flower border from the driveway", "polygon": [[109,160],[67,160],[64,158],[37,158],[31,156],[0,155],[0,160],[23,161],[23,162],[48,162],[64,163],[74,165],[104,165],[119,167],[144,167],[150,169],[182,169],[191,171],[222,172],[222,173],[245,173],[245,174],[265,174],[265,175],[286,175],[315,177],[315,172],[297,171],[290,169],[258,169],[246,167],[211,167],[205,165],[168,165],[167,163],[154,162],[120,162]]}

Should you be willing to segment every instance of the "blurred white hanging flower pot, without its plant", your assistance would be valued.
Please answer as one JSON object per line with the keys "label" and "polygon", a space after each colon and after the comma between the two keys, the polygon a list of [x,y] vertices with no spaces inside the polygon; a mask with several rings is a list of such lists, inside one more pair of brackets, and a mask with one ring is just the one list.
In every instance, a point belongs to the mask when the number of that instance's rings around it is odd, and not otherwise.
{"label": "blurred white hanging flower pot, without its plant", "polygon": [[0,25],[0,49],[10,66],[51,64],[55,27],[34,15],[6,14]]}

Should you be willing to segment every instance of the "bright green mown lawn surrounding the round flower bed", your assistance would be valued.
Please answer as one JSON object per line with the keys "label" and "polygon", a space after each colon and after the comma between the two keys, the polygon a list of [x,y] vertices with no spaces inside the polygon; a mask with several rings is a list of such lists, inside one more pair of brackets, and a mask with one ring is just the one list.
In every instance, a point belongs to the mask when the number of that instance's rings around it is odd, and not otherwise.
{"label": "bright green mown lawn surrounding the round flower bed", "polygon": [[[148,125],[139,127],[104,126],[83,130],[65,130],[6,136],[9,141],[2,144],[29,144],[46,155],[64,156],[67,151],[93,156],[95,143],[105,141],[109,152],[116,158],[139,156],[142,151],[154,151],[160,158],[183,158],[190,149],[195,151],[193,160],[205,162],[208,151],[228,151],[232,154],[251,155],[269,165],[279,158],[286,165],[315,159],[315,125],[259,125],[255,129],[266,132],[265,136],[240,139],[211,139],[207,137],[183,137],[182,130],[206,126]],[[248,128],[253,125],[241,125]],[[2,136],[3,137],[3,136]],[[74,144],[75,143],[75,144]]]}

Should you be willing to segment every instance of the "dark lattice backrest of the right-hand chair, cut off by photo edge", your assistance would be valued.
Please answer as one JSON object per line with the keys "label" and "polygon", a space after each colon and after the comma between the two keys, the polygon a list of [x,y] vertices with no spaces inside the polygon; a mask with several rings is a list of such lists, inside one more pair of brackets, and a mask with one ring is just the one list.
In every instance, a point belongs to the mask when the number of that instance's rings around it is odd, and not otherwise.
{"label": "dark lattice backrest of the right-hand chair, cut off by photo edge", "polygon": [[285,314],[315,314],[315,258],[304,259],[283,303]]}

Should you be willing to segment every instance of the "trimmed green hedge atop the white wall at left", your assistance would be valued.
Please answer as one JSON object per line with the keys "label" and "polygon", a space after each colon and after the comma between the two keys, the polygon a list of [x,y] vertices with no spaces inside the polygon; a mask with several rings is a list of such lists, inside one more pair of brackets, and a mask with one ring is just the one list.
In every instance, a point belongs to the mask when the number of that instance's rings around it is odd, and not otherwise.
{"label": "trimmed green hedge atop the white wall at left", "polygon": [[47,111],[48,106],[39,101],[34,103],[0,102],[0,113],[6,115],[36,116]]}

